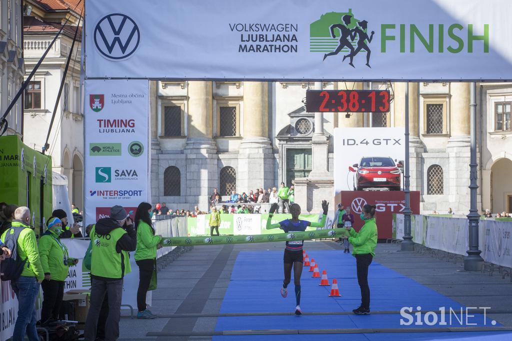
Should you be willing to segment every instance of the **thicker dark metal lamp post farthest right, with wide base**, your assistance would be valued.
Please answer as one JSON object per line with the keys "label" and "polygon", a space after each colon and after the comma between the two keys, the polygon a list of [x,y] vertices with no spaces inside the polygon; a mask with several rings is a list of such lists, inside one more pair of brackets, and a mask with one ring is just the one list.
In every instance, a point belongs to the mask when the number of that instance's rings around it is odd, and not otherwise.
{"label": "thicker dark metal lamp post farthest right, with wide base", "polygon": [[478,223],[480,214],[477,208],[477,188],[478,188],[478,163],[477,163],[477,88],[476,83],[470,83],[470,113],[471,113],[471,161],[470,161],[470,190],[471,206],[470,213],[467,215],[469,220],[467,256],[464,258],[464,270],[479,271],[483,265],[483,259],[480,257],[481,250],[478,249]]}

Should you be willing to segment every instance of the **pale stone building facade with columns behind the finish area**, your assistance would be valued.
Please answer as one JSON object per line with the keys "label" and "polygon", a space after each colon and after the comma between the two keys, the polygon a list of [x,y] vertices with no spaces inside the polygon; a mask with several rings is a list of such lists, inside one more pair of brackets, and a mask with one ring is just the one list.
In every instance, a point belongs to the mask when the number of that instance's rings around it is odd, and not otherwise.
{"label": "pale stone building facade with columns behind the finish area", "polygon": [[[405,87],[400,82],[152,81],[152,200],[206,210],[214,188],[222,195],[231,189],[248,193],[293,180],[303,211],[316,212],[322,199],[334,199],[334,129],[403,127]],[[394,100],[387,114],[306,113],[307,89],[389,89]],[[479,84],[479,209],[512,209],[505,175],[512,174],[510,89],[510,84]],[[411,189],[420,191],[422,212],[469,210],[469,104],[469,83],[409,83]]]}

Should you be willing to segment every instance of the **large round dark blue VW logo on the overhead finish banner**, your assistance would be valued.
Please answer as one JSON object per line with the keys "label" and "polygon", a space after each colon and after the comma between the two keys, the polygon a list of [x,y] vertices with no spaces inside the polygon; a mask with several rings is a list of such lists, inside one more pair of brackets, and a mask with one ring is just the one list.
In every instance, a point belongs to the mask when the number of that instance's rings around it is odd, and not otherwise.
{"label": "large round dark blue VW logo on the overhead finish banner", "polygon": [[139,47],[140,31],[134,20],[121,13],[104,16],[94,29],[94,44],[110,60],[130,57]]}

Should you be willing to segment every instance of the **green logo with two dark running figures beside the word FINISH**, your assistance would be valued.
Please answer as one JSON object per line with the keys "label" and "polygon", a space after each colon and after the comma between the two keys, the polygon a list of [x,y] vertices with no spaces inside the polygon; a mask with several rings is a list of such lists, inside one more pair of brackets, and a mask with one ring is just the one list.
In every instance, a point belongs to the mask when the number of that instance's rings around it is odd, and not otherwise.
{"label": "green logo with two dark running figures beside the word FINISH", "polygon": [[309,26],[309,51],[323,52],[324,60],[327,57],[343,53],[343,61],[349,58],[349,65],[353,68],[352,61],[360,52],[366,52],[366,65],[370,67],[370,48],[368,44],[373,39],[373,34],[367,33],[368,22],[359,20],[348,12],[329,12],[323,14],[320,19]]}

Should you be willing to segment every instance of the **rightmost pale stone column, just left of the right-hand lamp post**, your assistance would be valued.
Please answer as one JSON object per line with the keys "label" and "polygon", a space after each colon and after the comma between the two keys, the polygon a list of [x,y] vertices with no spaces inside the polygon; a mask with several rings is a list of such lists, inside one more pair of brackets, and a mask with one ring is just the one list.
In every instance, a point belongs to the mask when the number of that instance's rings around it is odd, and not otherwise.
{"label": "rightmost pale stone column, just left of the right-hand lamp post", "polygon": [[470,83],[450,83],[449,123],[448,200],[456,214],[467,214],[470,210]]}

